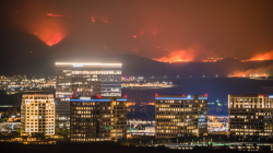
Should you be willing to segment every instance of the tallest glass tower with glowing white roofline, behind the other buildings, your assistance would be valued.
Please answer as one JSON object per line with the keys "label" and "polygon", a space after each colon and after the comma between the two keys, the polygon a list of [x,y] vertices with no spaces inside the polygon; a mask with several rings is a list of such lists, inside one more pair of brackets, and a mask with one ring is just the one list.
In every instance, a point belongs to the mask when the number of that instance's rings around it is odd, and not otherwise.
{"label": "tallest glass tower with glowing white roofline, behind the other buildings", "polygon": [[121,96],[121,63],[56,62],[57,126],[69,128],[70,97]]}

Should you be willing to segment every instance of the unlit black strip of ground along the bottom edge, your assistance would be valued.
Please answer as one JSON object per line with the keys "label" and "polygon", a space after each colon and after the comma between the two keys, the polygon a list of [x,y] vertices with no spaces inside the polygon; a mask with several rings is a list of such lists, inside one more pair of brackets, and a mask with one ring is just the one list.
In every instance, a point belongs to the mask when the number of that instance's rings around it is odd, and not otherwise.
{"label": "unlit black strip of ground along the bottom edge", "polygon": [[[192,150],[171,150],[164,146],[124,146],[114,144],[17,144],[0,143],[0,152],[7,153],[244,153],[245,151],[229,150],[221,148],[213,150],[206,146],[199,146]],[[265,151],[270,152],[270,151]],[[264,153],[264,151],[263,151]]]}

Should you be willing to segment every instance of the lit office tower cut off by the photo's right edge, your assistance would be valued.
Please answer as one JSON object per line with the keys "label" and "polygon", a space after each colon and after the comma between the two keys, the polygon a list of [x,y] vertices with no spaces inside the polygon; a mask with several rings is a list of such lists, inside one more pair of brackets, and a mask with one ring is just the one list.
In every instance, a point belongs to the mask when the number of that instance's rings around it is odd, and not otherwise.
{"label": "lit office tower cut off by the photo's right edge", "polygon": [[273,136],[273,95],[228,95],[229,133],[241,138]]}

